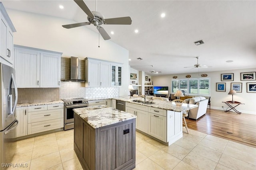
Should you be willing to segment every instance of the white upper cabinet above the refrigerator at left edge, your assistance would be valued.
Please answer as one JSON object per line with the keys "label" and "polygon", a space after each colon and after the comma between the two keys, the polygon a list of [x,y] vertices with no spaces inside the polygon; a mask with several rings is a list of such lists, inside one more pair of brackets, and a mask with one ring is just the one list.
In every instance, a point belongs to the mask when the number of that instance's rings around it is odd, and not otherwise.
{"label": "white upper cabinet above the refrigerator at left edge", "polygon": [[16,32],[2,2],[0,2],[0,56],[13,64],[13,32]]}

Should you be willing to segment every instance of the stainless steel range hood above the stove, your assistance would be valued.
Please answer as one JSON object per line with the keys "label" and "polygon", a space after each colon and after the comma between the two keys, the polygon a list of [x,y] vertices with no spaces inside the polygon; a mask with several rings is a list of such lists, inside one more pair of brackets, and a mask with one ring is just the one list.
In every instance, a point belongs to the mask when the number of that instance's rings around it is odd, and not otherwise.
{"label": "stainless steel range hood above the stove", "polygon": [[85,80],[78,79],[79,68],[78,68],[78,57],[70,57],[70,79],[65,82],[85,82]]}

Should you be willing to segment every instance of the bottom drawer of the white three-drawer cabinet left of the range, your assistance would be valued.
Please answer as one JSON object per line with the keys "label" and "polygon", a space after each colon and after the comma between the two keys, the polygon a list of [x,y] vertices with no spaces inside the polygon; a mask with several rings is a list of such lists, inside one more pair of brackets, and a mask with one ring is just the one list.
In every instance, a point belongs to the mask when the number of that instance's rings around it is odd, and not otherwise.
{"label": "bottom drawer of the white three-drawer cabinet left of the range", "polygon": [[61,128],[62,119],[28,123],[28,135]]}

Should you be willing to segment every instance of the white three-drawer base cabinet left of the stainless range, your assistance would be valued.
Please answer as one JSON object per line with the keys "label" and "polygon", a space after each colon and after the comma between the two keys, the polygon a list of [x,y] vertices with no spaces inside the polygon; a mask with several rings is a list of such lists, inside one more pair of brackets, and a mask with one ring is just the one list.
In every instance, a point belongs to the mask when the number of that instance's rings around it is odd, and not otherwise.
{"label": "white three-drawer base cabinet left of the stainless range", "polygon": [[64,104],[28,107],[28,135],[64,127]]}

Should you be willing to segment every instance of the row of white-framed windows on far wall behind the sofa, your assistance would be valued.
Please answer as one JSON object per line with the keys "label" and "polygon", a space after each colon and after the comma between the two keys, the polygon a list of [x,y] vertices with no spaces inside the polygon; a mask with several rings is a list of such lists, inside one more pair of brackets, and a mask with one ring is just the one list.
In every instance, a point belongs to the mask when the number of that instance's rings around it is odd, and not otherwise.
{"label": "row of white-framed windows on far wall behind the sofa", "polygon": [[210,78],[173,79],[172,93],[177,90],[187,95],[210,96]]}

